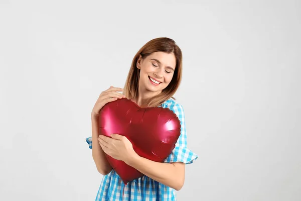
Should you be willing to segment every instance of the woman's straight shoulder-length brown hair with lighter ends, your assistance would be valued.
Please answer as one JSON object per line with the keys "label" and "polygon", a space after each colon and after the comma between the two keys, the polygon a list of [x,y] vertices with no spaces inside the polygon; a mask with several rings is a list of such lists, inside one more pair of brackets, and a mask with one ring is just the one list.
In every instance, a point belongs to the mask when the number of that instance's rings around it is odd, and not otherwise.
{"label": "woman's straight shoulder-length brown hair with lighter ends", "polygon": [[160,94],[147,100],[145,103],[147,107],[158,107],[169,98],[176,99],[173,95],[177,91],[182,79],[182,51],[176,42],[173,39],[166,37],[150,40],[140,48],[132,60],[126,82],[123,87],[123,94],[126,98],[134,99],[138,95],[140,69],[136,67],[136,64],[139,56],[141,55],[142,59],[144,59],[154,52],[174,53],[176,57],[176,68],[169,85],[163,89]]}

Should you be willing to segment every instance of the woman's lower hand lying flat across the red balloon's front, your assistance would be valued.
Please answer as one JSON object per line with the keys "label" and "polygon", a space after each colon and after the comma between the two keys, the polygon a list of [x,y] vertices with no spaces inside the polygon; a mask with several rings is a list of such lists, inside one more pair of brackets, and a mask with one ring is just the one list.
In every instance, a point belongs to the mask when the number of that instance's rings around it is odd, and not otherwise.
{"label": "woman's lower hand lying flat across the red balloon's front", "polygon": [[134,151],[131,142],[122,135],[112,134],[112,138],[99,135],[99,144],[107,155],[116,160],[122,160],[126,164],[130,163],[138,154]]}

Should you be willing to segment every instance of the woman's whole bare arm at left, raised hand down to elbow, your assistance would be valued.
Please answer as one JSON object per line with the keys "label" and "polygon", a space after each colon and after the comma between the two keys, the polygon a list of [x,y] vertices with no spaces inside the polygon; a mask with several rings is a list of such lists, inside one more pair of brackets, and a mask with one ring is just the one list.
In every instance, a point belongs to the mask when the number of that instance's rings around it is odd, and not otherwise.
{"label": "woman's whole bare arm at left, raised hand down to elbow", "polygon": [[91,122],[92,122],[92,157],[95,162],[98,172],[102,175],[108,174],[112,167],[106,159],[106,156],[99,144],[98,138],[98,117],[99,111],[104,105],[118,98],[125,97],[124,95],[118,93],[117,91],[122,91],[122,88],[117,88],[110,86],[107,90],[101,92],[99,95],[94,108],[91,113]]}

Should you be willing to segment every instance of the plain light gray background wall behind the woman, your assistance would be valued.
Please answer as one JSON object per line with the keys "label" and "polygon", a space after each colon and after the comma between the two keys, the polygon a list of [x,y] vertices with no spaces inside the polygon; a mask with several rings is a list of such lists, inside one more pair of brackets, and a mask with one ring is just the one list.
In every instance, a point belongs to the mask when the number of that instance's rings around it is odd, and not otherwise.
{"label": "plain light gray background wall behind the woman", "polygon": [[178,200],[301,200],[300,1],[0,2],[0,200],[94,200],[101,91],[157,37],[183,51]]}

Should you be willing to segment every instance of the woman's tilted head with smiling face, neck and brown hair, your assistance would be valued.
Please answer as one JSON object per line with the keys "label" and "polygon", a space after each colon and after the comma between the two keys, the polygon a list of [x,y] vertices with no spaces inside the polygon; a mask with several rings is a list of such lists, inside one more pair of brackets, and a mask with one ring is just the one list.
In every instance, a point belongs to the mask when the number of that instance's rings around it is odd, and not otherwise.
{"label": "woman's tilted head with smiling face, neck and brown hair", "polygon": [[[150,78],[161,82],[153,84]],[[153,80],[153,81],[154,81]],[[142,107],[158,107],[177,91],[182,80],[182,51],[170,38],[147,42],[134,56],[124,94]]]}

